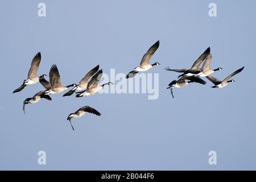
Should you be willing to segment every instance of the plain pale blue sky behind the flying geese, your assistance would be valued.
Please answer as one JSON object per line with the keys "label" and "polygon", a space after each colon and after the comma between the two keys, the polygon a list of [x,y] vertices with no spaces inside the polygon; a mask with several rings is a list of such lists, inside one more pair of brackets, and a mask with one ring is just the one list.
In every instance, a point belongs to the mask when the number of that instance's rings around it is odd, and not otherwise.
{"label": "plain pale blue sky behind the flying geese", "polygon": [[[47,16],[38,16],[46,3]],[[209,3],[217,17],[208,15]],[[0,1],[0,169],[222,170],[256,169],[255,1]],[[159,73],[159,98],[147,94],[51,96],[27,105],[44,90],[39,83],[18,88],[36,52],[38,75],[57,64],[63,85],[79,82],[100,64],[127,73],[160,40],[148,73]],[[167,85],[178,76],[164,67],[189,68],[207,48],[212,68],[223,79],[238,68],[236,82]],[[47,77],[48,80],[48,77]],[[108,88],[108,87],[107,87]],[[89,105],[102,114],[73,119],[68,114]],[[38,151],[46,151],[46,165]],[[217,152],[209,165],[208,152]]]}

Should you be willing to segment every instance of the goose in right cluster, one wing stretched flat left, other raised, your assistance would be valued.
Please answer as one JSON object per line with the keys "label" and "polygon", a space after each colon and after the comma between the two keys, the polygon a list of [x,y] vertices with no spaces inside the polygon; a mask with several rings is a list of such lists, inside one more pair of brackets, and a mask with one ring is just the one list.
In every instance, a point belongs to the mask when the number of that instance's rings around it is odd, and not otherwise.
{"label": "goose in right cluster, one wing stretched flat left, other raised", "polygon": [[179,72],[179,73],[183,73],[181,74],[179,77],[182,77],[184,75],[186,76],[194,76],[197,73],[201,72],[201,69],[199,69],[199,66],[201,63],[203,63],[203,61],[205,60],[205,58],[210,54],[210,47],[208,47],[198,58],[197,60],[193,63],[192,67],[190,69],[170,69],[169,67],[166,67],[165,69],[167,71],[173,71],[173,72]]}

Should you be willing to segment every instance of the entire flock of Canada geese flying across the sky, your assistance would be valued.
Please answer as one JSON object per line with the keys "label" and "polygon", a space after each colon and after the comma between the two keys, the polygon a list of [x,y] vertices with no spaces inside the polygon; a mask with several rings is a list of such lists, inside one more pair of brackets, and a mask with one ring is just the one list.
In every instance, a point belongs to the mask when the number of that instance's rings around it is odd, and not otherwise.
{"label": "entire flock of Canada geese flying across the sky", "polygon": [[[143,55],[139,66],[134,68],[133,71],[129,72],[126,75],[126,78],[133,78],[137,73],[147,71],[148,69],[154,67],[155,65],[159,65],[158,62],[154,64],[149,63],[151,57],[154,55],[158,47],[159,47],[159,40],[148,49],[148,51]],[[37,82],[40,82],[40,84],[42,84],[43,87],[46,89],[44,91],[40,91],[36,93],[31,98],[26,98],[26,100],[23,101],[24,113],[25,113],[26,104],[35,104],[39,102],[41,98],[45,98],[46,100],[51,101],[52,98],[49,96],[49,94],[61,93],[64,90],[67,90],[68,88],[72,87],[72,89],[69,90],[67,93],[65,93],[63,97],[71,96],[73,93],[76,93],[76,97],[85,97],[85,96],[90,96],[92,94],[99,92],[106,85],[114,84],[113,82],[107,82],[105,84],[98,85],[98,81],[100,81],[102,77],[102,69],[99,70],[100,65],[97,65],[96,67],[91,69],[88,73],[86,73],[86,75],[80,80],[79,84],[71,84],[68,86],[63,86],[61,85],[61,82],[60,82],[59,70],[57,69],[57,66],[55,64],[53,64],[51,69],[49,70],[49,81],[47,81],[44,78],[47,76],[45,74],[39,77],[36,76],[36,72],[38,71],[40,61],[41,61],[41,53],[38,52],[32,59],[31,67],[27,75],[27,80],[24,80],[23,84],[13,92],[13,93],[20,92],[27,85],[34,85]],[[237,71],[227,76],[224,80],[220,81],[217,78],[213,77],[211,74],[216,71],[220,71],[222,68],[210,69],[210,61],[212,61],[212,55],[210,54],[210,48],[208,47],[204,51],[204,53],[200,55],[199,58],[193,63],[190,69],[171,69],[169,67],[166,67],[165,69],[167,71],[182,73],[181,75],[178,76],[179,78],[178,80],[174,80],[170,82],[170,84],[168,85],[167,89],[171,90],[172,97],[174,98],[174,94],[172,93],[173,88],[182,88],[191,82],[197,82],[199,84],[205,85],[206,82],[200,77],[207,77],[208,80],[213,82],[214,86],[212,86],[212,88],[224,88],[226,85],[228,85],[228,82],[234,82],[234,80],[229,80],[229,79],[234,75],[236,75],[237,73],[240,73],[244,68],[242,67],[238,69]],[[199,68],[202,63],[203,63],[202,67]],[[69,123],[72,126],[71,119],[79,118],[82,115],[84,115],[86,112],[92,113],[98,116],[101,115],[101,113],[99,113],[96,109],[93,109],[92,107],[89,107],[89,106],[84,106],[78,109],[75,113],[69,114],[67,121],[69,121]],[[74,130],[73,126],[72,126],[72,129]]]}

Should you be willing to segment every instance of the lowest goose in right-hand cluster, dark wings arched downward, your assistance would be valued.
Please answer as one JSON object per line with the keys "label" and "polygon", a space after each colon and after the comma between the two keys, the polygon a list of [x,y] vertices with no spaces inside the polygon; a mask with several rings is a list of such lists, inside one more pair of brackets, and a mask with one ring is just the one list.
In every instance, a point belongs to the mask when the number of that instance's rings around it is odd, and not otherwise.
{"label": "lowest goose in right-hand cluster, dark wings arched downward", "polygon": [[[189,81],[186,81],[186,80],[189,80]],[[203,85],[206,84],[206,82],[199,77],[183,76],[183,77],[179,78],[179,80],[174,80],[174,81],[170,82],[167,89],[171,90],[172,97],[174,98],[174,94],[172,93],[172,88],[182,88],[183,86],[186,86],[191,82],[197,82],[197,83],[203,84]]]}

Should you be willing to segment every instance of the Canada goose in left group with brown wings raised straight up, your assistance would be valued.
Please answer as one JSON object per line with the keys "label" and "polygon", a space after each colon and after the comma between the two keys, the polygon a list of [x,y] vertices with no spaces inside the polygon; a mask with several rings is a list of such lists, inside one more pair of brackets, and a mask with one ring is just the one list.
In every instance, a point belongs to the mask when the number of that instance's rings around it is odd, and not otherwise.
{"label": "Canada goose in left group with brown wings raised straight up", "polygon": [[51,89],[47,89],[44,91],[44,94],[46,95],[57,94],[57,93],[63,92],[64,90],[67,90],[71,86],[76,85],[76,84],[72,84],[68,86],[62,86],[60,82],[60,74],[55,64],[52,65],[49,71],[49,83],[51,85]]}

